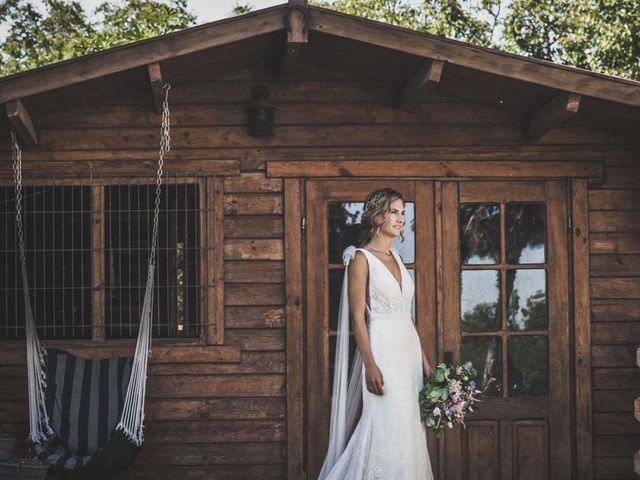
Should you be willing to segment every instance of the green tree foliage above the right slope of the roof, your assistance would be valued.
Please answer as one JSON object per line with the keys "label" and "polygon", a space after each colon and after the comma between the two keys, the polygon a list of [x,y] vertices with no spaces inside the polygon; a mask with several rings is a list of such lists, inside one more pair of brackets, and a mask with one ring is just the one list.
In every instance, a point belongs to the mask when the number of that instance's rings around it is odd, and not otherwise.
{"label": "green tree foliage above the right slope of the roof", "polygon": [[[381,22],[640,80],[637,0],[311,0]],[[506,14],[505,14],[506,12]]]}

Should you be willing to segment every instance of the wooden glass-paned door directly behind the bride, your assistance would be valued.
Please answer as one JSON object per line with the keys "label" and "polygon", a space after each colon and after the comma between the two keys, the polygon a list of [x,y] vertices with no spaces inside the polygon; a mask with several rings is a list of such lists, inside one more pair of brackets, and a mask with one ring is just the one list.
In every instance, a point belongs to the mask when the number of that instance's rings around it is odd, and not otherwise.
{"label": "wooden glass-paned door directly behind the bride", "polygon": [[[399,190],[407,202],[406,240],[402,243],[394,241],[394,246],[416,283],[414,315],[418,332],[432,363],[436,358],[433,183],[384,179],[308,181],[307,478],[317,478],[329,437],[332,363],[344,274],[342,251],[352,244],[349,227],[359,222],[365,197],[381,187]],[[432,462],[435,462],[437,444],[433,435],[429,436],[428,444]]]}

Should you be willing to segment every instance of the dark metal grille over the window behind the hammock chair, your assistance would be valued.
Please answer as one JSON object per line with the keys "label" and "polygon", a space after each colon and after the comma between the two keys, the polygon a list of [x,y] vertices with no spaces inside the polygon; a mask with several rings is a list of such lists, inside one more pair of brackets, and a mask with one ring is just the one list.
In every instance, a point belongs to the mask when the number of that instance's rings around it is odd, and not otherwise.
{"label": "dark metal grille over the window behind the hammock chair", "polygon": [[[200,310],[200,205],[196,179],[165,177],[156,254],[153,336],[198,337]],[[52,181],[23,187],[27,271],[38,334],[43,339],[90,339],[96,291],[104,285],[105,338],[137,336],[144,296],[155,178]],[[187,183],[191,182],[191,183]],[[65,183],[65,185],[60,185]],[[102,205],[92,199],[98,188]],[[94,245],[95,216],[104,245]],[[103,248],[103,257],[96,250]],[[92,265],[103,258],[103,278]],[[0,186],[0,340],[25,337],[24,301],[15,224],[15,192]],[[206,297],[206,295],[205,295]],[[103,327],[103,326],[104,327]]]}

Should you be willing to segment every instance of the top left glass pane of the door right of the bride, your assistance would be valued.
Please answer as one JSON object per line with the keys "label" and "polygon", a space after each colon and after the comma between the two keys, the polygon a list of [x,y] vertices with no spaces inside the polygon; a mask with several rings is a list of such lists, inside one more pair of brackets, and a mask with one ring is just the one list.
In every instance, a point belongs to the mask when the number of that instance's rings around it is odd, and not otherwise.
{"label": "top left glass pane of the door right of the bride", "polygon": [[500,262],[500,206],[460,206],[460,259],[464,265]]}

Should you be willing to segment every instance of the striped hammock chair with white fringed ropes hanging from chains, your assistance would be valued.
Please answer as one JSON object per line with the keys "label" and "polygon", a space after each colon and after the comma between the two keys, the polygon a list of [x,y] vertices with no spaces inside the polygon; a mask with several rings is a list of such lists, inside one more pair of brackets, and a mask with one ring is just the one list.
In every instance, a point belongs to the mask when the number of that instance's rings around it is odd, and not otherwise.
{"label": "striped hammock chair with white fringed ropes hanging from chains", "polygon": [[111,478],[136,459],[144,441],[147,359],[164,155],[170,149],[169,89],[164,86],[153,234],[140,330],[133,357],[82,359],[40,343],[33,318],[22,225],[22,153],[11,130],[16,224],[25,305],[29,444],[49,473],[65,479]]}

